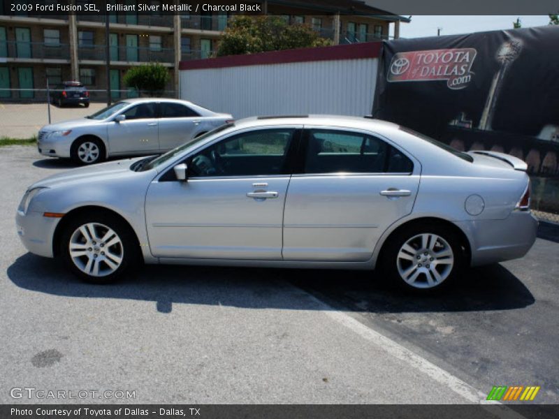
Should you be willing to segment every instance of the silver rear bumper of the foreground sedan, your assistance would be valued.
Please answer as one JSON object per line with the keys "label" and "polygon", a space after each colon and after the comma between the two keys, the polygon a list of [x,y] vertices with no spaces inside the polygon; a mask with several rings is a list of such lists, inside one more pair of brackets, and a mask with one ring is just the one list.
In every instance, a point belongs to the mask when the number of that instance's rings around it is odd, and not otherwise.
{"label": "silver rear bumper of the foreground sedan", "polygon": [[504,220],[456,223],[472,249],[472,266],[522,258],[536,240],[537,219],[532,212],[514,211]]}

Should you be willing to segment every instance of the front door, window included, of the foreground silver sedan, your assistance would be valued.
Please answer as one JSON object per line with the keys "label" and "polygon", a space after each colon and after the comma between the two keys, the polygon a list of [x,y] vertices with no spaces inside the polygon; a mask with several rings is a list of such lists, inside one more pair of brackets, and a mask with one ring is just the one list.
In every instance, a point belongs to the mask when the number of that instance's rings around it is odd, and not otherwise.
{"label": "front door, window included, of the foreground silver sedan", "polygon": [[145,200],[152,254],[281,260],[287,156],[296,128],[228,135],[187,159],[187,182],[173,172],[152,182]]}

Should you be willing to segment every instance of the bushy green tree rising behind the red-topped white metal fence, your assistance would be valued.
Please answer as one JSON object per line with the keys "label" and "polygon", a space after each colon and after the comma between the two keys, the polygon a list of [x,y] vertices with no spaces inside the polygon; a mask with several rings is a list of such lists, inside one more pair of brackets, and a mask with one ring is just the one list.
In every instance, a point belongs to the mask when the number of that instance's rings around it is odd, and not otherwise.
{"label": "bushy green tree rising behind the red-topped white metal fence", "polygon": [[331,41],[305,24],[289,24],[279,16],[238,15],[225,29],[217,56],[325,45],[331,45]]}

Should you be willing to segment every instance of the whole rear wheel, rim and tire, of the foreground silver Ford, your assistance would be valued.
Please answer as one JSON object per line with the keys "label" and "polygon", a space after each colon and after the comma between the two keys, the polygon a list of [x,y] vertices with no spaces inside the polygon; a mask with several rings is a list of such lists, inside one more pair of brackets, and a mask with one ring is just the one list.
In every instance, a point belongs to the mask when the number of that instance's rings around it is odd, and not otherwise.
{"label": "whole rear wheel, rim and tire, of the foreground silver Ford", "polygon": [[384,273],[400,288],[429,293],[449,286],[464,261],[458,236],[436,223],[426,223],[395,233],[381,262]]}

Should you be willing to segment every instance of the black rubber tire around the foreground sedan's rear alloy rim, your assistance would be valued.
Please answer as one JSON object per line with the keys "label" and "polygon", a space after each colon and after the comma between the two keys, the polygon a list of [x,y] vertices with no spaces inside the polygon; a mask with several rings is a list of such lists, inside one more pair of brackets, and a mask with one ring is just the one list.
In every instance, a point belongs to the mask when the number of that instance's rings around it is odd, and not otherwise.
{"label": "black rubber tire around the foreground sedan's rear alloy rim", "polygon": [[[428,237],[435,237],[436,235],[442,240],[433,240],[435,242],[433,250],[423,249],[421,235],[430,235]],[[412,242],[409,243],[410,247],[412,247],[416,253],[408,253],[407,250],[404,250],[404,253],[406,255],[410,254],[413,261],[398,257],[400,249],[410,240],[412,240]],[[431,239],[429,239],[429,242],[430,241]],[[453,264],[450,268],[447,268],[447,266],[449,266],[448,256],[438,257],[440,260],[439,263],[436,261],[435,263],[432,262],[433,260],[437,260],[437,256],[435,256],[436,253],[447,253],[447,246],[450,247],[451,256],[453,257]],[[465,266],[465,251],[460,245],[460,237],[449,228],[438,223],[414,224],[408,228],[402,228],[402,230],[397,231],[389,238],[389,242],[387,242],[382,249],[380,258],[379,265],[381,271],[385,279],[390,281],[390,284],[394,284],[404,291],[419,294],[428,294],[444,290],[456,281]],[[406,265],[407,263],[409,264]],[[415,269],[413,269],[414,266]],[[447,269],[449,270],[448,272]],[[442,281],[437,280],[433,270],[437,270],[439,276],[442,277]],[[409,281],[405,281],[402,275],[400,275],[400,272],[404,274],[409,272],[407,276]],[[412,277],[416,272],[416,279],[412,281]],[[432,281],[431,284],[429,284],[428,276]],[[413,282],[413,285],[409,283],[410,281]]]}

